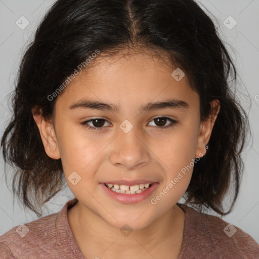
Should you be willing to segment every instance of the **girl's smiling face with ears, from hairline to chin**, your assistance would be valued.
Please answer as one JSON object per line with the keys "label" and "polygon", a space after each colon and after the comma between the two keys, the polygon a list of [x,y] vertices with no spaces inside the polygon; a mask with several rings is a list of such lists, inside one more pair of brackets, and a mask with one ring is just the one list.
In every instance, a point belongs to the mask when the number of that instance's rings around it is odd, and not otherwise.
{"label": "girl's smiling face with ears, from hairline to chin", "polygon": [[201,124],[199,96],[175,69],[144,54],[103,57],[58,97],[53,124],[34,116],[79,204],[115,228],[143,229],[171,209],[206,152],[213,122]]}

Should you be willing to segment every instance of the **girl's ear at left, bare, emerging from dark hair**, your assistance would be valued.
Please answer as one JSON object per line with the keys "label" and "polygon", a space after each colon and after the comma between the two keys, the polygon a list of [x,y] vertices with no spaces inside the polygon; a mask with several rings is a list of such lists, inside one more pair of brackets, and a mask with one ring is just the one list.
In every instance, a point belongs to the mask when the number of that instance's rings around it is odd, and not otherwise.
{"label": "girl's ear at left, bare, emerging from dark hair", "polygon": [[59,159],[60,152],[53,123],[52,121],[46,121],[44,118],[42,118],[41,112],[38,114],[35,113],[35,111],[35,108],[31,109],[33,118],[37,124],[39,134],[45,148],[45,152],[49,157],[53,159]]}

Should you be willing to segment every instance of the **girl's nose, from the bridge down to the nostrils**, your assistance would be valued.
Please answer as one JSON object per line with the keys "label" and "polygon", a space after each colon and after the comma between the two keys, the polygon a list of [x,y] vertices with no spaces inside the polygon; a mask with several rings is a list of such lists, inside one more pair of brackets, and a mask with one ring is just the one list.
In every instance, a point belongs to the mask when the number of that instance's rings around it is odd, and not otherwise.
{"label": "girl's nose, from the bridge down to the nostrils", "polygon": [[119,128],[118,136],[112,142],[111,163],[127,170],[145,166],[150,161],[150,149],[145,142],[144,134],[137,126],[127,133]]}

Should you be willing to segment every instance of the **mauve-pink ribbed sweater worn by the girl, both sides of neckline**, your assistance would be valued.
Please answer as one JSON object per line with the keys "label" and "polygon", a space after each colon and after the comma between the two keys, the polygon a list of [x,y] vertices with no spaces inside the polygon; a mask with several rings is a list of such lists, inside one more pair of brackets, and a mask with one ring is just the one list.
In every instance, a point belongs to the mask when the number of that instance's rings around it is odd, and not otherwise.
{"label": "mauve-pink ribbed sweater worn by the girl, both sides of neckline", "polygon": [[[85,259],[67,220],[67,210],[76,202],[76,198],[69,200],[60,212],[14,227],[0,236],[0,258]],[[259,245],[250,235],[219,217],[178,205],[185,212],[183,244],[178,259],[259,259]]]}

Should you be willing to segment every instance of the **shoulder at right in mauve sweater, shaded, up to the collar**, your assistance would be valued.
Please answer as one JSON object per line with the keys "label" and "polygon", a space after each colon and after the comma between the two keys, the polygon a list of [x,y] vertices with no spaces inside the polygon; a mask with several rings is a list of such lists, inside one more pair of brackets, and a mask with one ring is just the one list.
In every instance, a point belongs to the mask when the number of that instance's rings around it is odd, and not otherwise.
{"label": "shoulder at right in mauve sweater, shaded, up to the collar", "polygon": [[240,228],[217,216],[179,205],[186,217],[183,243],[187,246],[184,252],[188,253],[188,247],[197,247],[197,256],[202,257],[259,258],[259,245]]}

